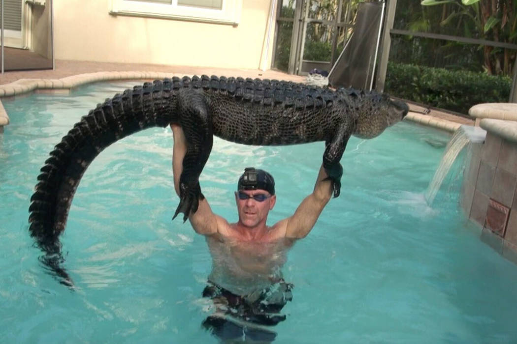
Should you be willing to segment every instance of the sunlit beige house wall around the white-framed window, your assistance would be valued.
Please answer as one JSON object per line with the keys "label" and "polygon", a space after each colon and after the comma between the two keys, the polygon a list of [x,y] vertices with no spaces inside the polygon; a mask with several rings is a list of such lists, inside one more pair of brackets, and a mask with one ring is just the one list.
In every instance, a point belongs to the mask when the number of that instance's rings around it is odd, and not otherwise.
{"label": "sunlit beige house wall around the white-framed window", "polygon": [[[240,23],[235,27],[114,16],[109,14],[110,4],[110,0],[55,0],[55,58],[219,68],[260,67],[270,0],[242,0]],[[273,35],[268,60],[272,38]],[[266,66],[269,68],[270,63]]]}

